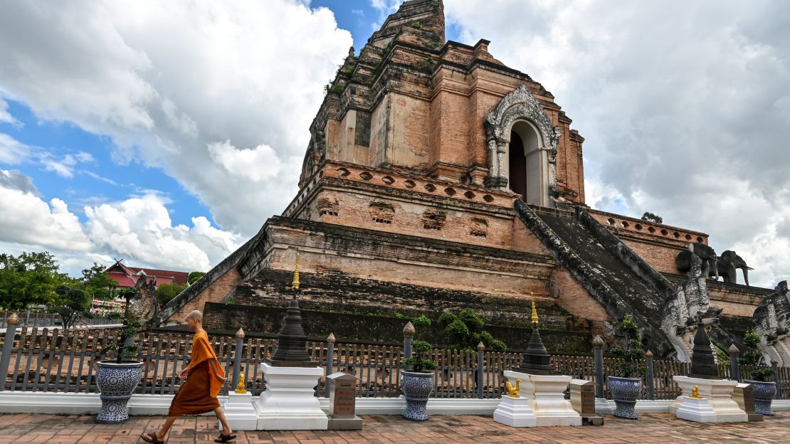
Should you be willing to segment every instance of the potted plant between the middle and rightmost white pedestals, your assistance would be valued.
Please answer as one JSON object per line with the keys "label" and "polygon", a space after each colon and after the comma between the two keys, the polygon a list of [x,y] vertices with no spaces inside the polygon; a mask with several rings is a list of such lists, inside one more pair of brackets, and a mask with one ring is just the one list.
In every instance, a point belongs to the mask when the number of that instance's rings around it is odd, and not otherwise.
{"label": "potted plant between the middle and rightmost white pedestals", "polygon": [[623,359],[623,363],[619,363],[615,367],[617,376],[607,377],[609,392],[615,401],[615,416],[636,420],[635,407],[641,393],[641,377],[633,378],[633,376],[645,374],[647,371],[647,367],[638,365],[641,359],[645,359],[645,350],[639,341],[639,326],[636,325],[630,314],[626,314],[617,325],[617,329],[626,337],[626,348],[611,348],[611,354]]}

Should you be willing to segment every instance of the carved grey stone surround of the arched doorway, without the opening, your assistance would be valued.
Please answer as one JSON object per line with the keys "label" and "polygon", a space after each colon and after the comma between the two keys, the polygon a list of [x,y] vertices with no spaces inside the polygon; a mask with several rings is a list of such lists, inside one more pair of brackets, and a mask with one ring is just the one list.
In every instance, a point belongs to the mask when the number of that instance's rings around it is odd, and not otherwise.
{"label": "carved grey stone surround of the arched doorway, without the opening", "polygon": [[486,186],[504,189],[507,186],[507,171],[504,158],[510,139],[513,122],[527,119],[540,131],[542,149],[547,150],[548,158],[548,194],[556,197],[557,193],[557,147],[562,129],[552,126],[540,102],[532,96],[526,85],[521,85],[507,96],[502,97],[497,106],[488,111],[484,122],[488,145],[488,177]]}

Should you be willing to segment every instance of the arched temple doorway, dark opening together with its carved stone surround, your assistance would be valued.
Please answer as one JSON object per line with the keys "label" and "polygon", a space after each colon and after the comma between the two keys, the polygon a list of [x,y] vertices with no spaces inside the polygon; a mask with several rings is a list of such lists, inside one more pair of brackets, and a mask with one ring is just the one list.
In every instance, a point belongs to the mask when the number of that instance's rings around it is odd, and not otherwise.
{"label": "arched temple doorway, dark opening together with its carved stone surround", "polygon": [[[488,112],[485,128],[486,186],[513,190],[522,194],[527,203],[553,207],[551,198],[557,196],[557,147],[562,132],[559,126],[551,125],[551,119],[526,85],[508,93]],[[520,161],[518,151],[524,153],[524,170],[516,170],[523,172],[523,186],[520,174],[513,174],[513,183],[510,180],[511,162]]]}

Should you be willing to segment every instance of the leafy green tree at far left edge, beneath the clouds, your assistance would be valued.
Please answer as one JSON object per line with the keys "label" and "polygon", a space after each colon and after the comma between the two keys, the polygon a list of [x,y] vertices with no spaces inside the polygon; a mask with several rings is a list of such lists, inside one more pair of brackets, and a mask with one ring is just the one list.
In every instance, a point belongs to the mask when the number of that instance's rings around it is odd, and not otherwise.
{"label": "leafy green tree at far left edge, beneath the clouds", "polygon": [[35,304],[53,305],[55,288],[69,281],[59,273],[58,262],[48,251],[0,254],[0,304],[19,309]]}

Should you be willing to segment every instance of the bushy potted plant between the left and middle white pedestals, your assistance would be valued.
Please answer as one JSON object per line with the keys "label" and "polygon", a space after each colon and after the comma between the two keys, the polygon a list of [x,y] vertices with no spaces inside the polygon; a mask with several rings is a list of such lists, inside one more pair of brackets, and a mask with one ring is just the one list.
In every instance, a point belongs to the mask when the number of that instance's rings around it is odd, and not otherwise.
{"label": "bushy potted plant between the left and middle white pedestals", "polygon": [[[431,325],[431,320],[420,315],[414,319],[412,325],[427,328]],[[425,353],[431,351],[431,348],[431,344],[426,341],[412,341],[412,352],[415,356],[403,360],[403,363],[409,368],[401,373],[401,389],[406,397],[406,411],[403,417],[406,420],[428,420],[426,404],[431,392],[434,391],[434,370],[436,369],[436,362],[425,357]]]}

